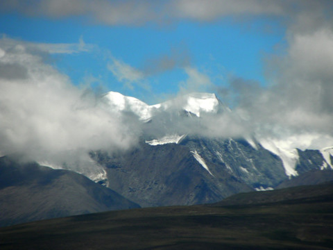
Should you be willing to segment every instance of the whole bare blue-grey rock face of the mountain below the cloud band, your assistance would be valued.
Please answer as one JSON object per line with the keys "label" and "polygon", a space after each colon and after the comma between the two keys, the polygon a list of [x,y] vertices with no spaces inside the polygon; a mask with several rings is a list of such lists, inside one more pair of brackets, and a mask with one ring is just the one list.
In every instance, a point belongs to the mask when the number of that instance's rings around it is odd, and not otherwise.
{"label": "whole bare blue-grey rock face of the mountain below the cloud band", "polygon": [[[321,169],[325,161],[320,151],[298,149],[298,155],[299,176]],[[97,151],[91,157],[105,167],[112,190],[144,207],[213,203],[239,192],[271,190],[293,179],[278,156],[246,140],[187,136],[178,144],[142,142],[126,153],[109,156]],[[297,183],[311,181],[299,178]]]}

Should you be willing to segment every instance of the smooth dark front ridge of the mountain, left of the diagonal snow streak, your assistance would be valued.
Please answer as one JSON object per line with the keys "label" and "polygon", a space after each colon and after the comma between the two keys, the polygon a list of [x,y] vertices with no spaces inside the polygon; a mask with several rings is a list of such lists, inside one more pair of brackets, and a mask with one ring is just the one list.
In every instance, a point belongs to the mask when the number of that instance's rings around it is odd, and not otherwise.
{"label": "smooth dark front ridge of the mountain, left of the diagonal snow streak", "polygon": [[180,144],[142,143],[121,156],[98,152],[92,157],[108,168],[110,188],[140,206],[211,203],[252,190],[227,169],[216,166],[213,176],[198,163],[189,147]]}

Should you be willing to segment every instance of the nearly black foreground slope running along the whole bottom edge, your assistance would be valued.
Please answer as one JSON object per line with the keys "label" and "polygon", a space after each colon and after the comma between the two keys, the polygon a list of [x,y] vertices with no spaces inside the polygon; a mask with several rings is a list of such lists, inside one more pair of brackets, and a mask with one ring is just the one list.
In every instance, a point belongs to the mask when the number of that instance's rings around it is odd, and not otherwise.
{"label": "nearly black foreground slope running along the whole bottom edge", "polygon": [[333,249],[332,232],[330,182],[0,228],[0,249]]}

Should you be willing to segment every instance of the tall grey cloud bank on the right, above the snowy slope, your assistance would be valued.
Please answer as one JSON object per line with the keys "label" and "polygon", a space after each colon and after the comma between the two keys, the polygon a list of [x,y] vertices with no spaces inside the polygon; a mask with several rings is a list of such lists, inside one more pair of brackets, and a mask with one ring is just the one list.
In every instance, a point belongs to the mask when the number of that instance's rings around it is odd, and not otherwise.
{"label": "tall grey cloud bank on the right, above the snowy slope", "polygon": [[332,146],[333,32],[322,27],[293,33],[288,42],[284,56],[268,58],[271,85],[230,81],[228,91],[237,97],[234,111],[262,137],[290,135],[293,146],[303,149]]}

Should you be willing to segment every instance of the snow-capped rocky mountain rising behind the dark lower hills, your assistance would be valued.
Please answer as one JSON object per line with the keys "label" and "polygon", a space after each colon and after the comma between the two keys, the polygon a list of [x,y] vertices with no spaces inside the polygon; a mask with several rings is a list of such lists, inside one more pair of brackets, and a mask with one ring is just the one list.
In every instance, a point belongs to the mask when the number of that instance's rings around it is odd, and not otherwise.
{"label": "snow-capped rocky mountain rising behind the dark lower hills", "polygon": [[332,147],[288,151],[255,135],[225,138],[200,131],[203,122],[233,115],[215,94],[192,93],[152,106],[115,92],[103,99],[105,108],[136,115],[144,132],[137,147],[126,152],[89,154],[105,169],[105,185],[140,206],[212,203],[294,179],[311,184],[311,178],[296,177],[333,169]]}

